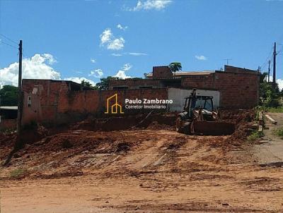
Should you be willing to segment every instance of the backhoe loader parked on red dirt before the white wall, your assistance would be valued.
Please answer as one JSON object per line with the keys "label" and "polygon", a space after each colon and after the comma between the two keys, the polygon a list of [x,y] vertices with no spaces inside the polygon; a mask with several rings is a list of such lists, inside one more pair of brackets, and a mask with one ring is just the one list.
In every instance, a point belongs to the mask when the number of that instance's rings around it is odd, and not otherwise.
{"label": "backhoe loader parked on red dirt before the white wall", "polygon": [[193,135],[231,135],[236,123],[221,121],[219,110],[213,111],[213,97],[196,95],[193,89],[185,97],[183,111],[178,114],[176,130],[178,133]]}

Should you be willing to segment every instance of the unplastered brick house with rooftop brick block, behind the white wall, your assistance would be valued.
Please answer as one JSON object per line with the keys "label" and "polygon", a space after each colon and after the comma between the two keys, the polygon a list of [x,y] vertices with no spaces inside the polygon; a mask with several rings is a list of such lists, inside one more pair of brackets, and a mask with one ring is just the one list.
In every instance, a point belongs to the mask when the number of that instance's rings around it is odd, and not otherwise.
{"label": "unplastered brick house with rooftop brick block, behind the white wall", "polygon": [[172,73],[168,66],[154,66],[145,79],[111,80],[110,90],[141,88],[197,88],[216,90],[224,108],[248,109],[258,104],[260,75],[258,71],[225,66],[224,71],[190,71]]}

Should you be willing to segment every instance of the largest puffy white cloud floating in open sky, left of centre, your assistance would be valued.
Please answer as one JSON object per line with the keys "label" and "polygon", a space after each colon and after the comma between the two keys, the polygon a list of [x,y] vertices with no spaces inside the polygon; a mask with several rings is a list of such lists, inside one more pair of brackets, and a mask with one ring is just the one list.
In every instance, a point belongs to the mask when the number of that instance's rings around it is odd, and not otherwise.
{"label": "largest puffy white cloud floating in open sky, left of centre", "polygon": [[100,35],[100,46],[105,46],[107,49],[119,50],[123,49],[125,39],[123,37],[116,38],[110,28],[105,29]]}

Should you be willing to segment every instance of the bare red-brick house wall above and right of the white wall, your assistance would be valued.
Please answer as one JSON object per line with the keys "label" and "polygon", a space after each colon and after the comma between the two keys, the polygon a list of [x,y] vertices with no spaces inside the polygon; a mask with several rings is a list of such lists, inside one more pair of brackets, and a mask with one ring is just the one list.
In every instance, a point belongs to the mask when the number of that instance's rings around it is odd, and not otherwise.
{"label": "bare red-brick house wall above and right of the white wall", "polygon": [[258,105],[259,75],[255,71],[190,75],[182,79],[182,87],[218,90],[222,108],[250,109]]}

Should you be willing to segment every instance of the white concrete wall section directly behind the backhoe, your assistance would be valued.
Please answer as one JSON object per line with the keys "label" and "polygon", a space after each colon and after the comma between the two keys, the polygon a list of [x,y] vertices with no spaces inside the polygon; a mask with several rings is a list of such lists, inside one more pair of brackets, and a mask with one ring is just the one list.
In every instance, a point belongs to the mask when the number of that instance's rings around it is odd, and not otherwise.
{"label": "white concrete wall section directly behind the backhoe", "polygon": [[[168,88],[168,99],[173,100],[170,111],[182,111],[185,104],[185,97],[189,96],[192,90]],[[214,90],[197,90],[197,95],[207,95],[213,97],[214,109],[219,107],[220,92]]]}

